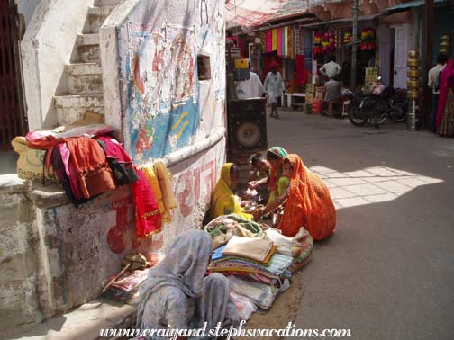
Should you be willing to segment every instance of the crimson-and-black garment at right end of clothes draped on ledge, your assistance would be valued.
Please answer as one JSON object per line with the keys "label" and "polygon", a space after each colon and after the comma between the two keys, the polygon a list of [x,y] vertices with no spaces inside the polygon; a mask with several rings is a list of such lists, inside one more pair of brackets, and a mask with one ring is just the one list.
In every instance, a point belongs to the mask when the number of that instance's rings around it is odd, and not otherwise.
{"label": "crimson-and-black garment at right end of clothes draped on ledge", "polygon": [[110,136],[98,137],[97,141],[104,149],[107,162],[114,174],[115,183],[118,185],[136,183],[139,177],[132,166],[131,158],[120,143]]}

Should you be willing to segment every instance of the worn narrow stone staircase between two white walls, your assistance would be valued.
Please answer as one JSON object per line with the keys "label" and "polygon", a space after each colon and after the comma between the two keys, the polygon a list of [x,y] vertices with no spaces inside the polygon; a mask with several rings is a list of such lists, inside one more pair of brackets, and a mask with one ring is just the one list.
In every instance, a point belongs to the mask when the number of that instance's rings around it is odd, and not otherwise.
{"label": "worn narrow stone staircase between two white walls", "polygon": [[84,114],[104,114],[103,75],[99,54],[99,28],[121,0],[95,0],[86,22],[76,37],[71,63],[65,66],[54,106],[59,125],[69,124]]}

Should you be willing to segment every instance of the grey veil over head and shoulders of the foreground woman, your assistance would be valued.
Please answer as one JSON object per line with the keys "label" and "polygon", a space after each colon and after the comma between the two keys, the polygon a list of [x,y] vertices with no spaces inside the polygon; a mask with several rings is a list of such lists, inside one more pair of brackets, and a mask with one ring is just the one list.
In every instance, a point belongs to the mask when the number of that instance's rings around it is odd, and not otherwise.
{"label": "grey veil over head and shoulders of the foreground woman", "polygon": [[136,325],[141,327],[143,309],[151,294],[161,287],[173,286],[184,291],[188,297],[201,297],[204,274],[212,252],[212,237],[204,230],[189,230],[175,237],[167,247],[166,257],[150,269],[147,280],[141,285]]}

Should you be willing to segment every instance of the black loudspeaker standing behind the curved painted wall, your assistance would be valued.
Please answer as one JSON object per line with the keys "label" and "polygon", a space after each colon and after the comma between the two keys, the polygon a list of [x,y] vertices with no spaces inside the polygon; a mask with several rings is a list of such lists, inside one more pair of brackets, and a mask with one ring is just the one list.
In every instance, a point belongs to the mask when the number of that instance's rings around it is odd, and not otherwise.
{"label": "black loudspeaker standing behind the curved painted wall", "polygon": [[268,148],[266,98],[229,100],[227,125],[231,154],[250,154]]}

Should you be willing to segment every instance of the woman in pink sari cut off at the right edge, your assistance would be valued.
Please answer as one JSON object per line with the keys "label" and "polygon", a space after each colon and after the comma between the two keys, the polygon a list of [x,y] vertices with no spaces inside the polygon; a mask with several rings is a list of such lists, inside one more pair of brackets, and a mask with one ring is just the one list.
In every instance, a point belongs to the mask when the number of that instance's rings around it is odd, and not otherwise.
{"label": "woman in pink sari cut off at the right edge", "polygon": [[454,136],[454,59],[441,72],[440,100],[436,127],[440,136]]}

